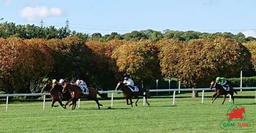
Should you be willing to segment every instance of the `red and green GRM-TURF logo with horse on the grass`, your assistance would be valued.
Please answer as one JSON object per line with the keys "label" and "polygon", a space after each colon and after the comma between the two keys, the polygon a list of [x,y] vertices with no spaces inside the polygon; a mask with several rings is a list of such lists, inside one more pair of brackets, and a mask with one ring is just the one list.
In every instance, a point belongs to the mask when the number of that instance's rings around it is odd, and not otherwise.
{"label": "red and green GRM-TURF logo with horse on the grass", "polygon": [[223,129],[252,129],[254,122],[246,120],[245,107],[241,105],[232,105],[225,113],[227,119],[220,122]]}

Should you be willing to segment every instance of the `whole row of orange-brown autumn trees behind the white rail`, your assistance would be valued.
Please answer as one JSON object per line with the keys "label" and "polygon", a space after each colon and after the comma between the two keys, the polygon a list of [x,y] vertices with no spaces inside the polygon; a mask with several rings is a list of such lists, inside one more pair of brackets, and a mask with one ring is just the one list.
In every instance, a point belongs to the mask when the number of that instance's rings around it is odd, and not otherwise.
{"label": "whole row of orange-brown autumn trees behind the white rail", "polygon": [[79,78],[89,86],[113,89],[123,75],[137,84],[180,78],[185,87],[202,87],[217,76],[239,77],[241,68],[253,74],[251,59],[245,45],[224,34],[189,41],[8,37],[0,39],[0,90],[34,92],[47,78]]}

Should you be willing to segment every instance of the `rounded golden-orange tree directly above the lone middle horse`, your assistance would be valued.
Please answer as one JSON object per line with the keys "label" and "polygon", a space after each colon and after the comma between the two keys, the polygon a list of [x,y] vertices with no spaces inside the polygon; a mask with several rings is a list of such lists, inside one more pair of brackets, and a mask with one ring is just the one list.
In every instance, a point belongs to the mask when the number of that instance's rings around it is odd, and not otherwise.
{"label": "rounded golden-orange tree directly above the lone middle horse", "polygon": [[114,50],[118,71],[135,80],[160,77],[157,47],[149,41],[127,42]]}

